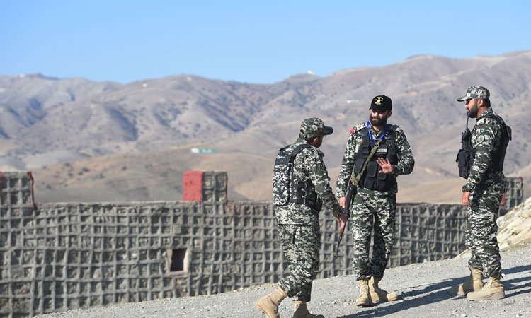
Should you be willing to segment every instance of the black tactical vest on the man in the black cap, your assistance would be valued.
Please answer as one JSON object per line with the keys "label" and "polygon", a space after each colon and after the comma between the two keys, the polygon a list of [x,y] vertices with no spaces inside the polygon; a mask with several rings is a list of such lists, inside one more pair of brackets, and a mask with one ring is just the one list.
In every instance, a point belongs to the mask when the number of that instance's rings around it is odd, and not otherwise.
{"label": "black tactical vest on the man in the black cap", "polygon": [[[372,146],[374,146],[374,142],[370,141],[367,128],[362,129],[362,139],[363,143],[358,149],[354,165],[354,172],[356,174],[361,172],[363,164],[365,163],[365,160],[369,158]],[[398,151],[394,142],[394,129],[389,129],[387,131],[387,139],[384,139],[384,141],[379,144],[375,155],[370,158],[367,168],[365,168],[365,172],[363,172],[363,175],[360,178],[358,187],[379,192],[387,192],[396,186],[396,178],[391,174],[379,173],[382,171],[382,167],[376,162],[377,158],[387,158],[392,165],[398,163]]]}

